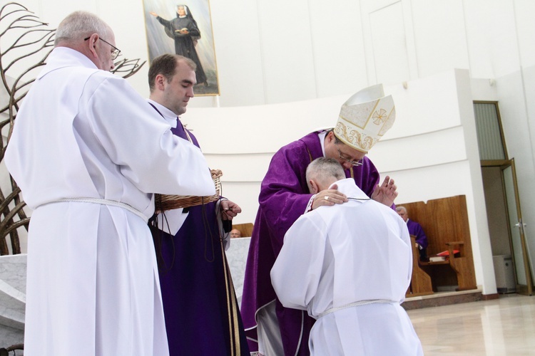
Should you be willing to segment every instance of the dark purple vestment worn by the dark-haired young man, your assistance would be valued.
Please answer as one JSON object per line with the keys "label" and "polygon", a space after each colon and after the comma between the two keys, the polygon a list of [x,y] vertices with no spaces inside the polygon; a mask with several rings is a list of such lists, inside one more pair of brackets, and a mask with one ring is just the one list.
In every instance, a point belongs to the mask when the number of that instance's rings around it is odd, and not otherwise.
{"label": "dark purple vestment worn by the dark-haired young man", "polygon": [[[172,131],[188,140],[180,120]],[[199,147],[191,132],[188,135]],[[190,207],[174,237],[158,233],[161,248],[156,243],[156,253],[170,356],[249,355],[238,300],[230,293],[233,284],[215,202]]]}

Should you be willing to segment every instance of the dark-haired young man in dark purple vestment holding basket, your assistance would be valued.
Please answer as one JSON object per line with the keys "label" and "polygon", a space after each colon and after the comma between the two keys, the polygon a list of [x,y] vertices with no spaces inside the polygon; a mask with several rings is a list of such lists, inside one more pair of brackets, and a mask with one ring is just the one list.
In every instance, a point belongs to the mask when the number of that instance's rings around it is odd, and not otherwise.
{"label": "dark-haired young man in dark purple vestment holding basket", "polygon": [[[178,115],[193,98],[195,63],[164,54],[148,71],[149,104],[174,128],[171,131],[199,147]],[[248,355],[230,270],[225,258],[228,231],[240,206],[226,199],[159,214],[153,229],[170,356]],[[181,226],[180,226],[181,225]]]}

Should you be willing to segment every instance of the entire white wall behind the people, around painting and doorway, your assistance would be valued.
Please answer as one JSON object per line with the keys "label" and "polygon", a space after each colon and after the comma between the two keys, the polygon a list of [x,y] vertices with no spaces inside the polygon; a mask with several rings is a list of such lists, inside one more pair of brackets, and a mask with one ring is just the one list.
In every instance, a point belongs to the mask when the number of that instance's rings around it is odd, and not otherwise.
{"label": "entire white wall behind the people, around painting and doorway", "polygon": [[[115,29],[127,58],[148,57],[142,1],[22,3],[51,26],[75,9],[96,12]],[[380,81],[396,95],[399,114],[370,156],[399,182],[399,201],[471,197],[477,280],[489,293],[494,284],[469,107],[472,99],[499,100],[535,252],[534,1],[212,0],[210,7],[221,95],[193,99],[183,119],[210,164],[223,169],[224,194],[244,205],[237,222],[253,221],[260,180],[278,147],[333,125],[347,96]],[[143,95],[147,69],[129,79]]]}

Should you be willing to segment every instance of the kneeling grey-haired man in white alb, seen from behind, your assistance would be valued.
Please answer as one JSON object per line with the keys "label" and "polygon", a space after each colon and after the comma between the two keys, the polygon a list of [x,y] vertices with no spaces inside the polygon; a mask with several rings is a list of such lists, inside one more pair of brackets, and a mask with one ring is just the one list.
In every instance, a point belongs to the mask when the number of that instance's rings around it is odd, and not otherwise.
{"label": "kneeling grey-haired man in white alb, seen from behind", "polygon": [[316,319],[310,355],[423,355],[400,305],[412,273],[407,226],[335,159],[315,159],[306,179],[313,194],[337,189],[349,200],[300,216],[270,273],[282,305]]}

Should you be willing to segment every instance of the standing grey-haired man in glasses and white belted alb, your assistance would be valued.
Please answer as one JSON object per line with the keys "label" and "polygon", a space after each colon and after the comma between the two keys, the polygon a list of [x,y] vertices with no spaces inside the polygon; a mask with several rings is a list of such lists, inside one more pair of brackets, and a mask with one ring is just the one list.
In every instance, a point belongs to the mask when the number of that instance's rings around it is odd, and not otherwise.
{"label": "standing grey-haired man in glasses and white belted alb", "polygon": [[215,194],[202,153],[123,78],[111,28],[77,11],[19,111],[6,165],[34,212],[24,355],[169,354],[153,193]]}

